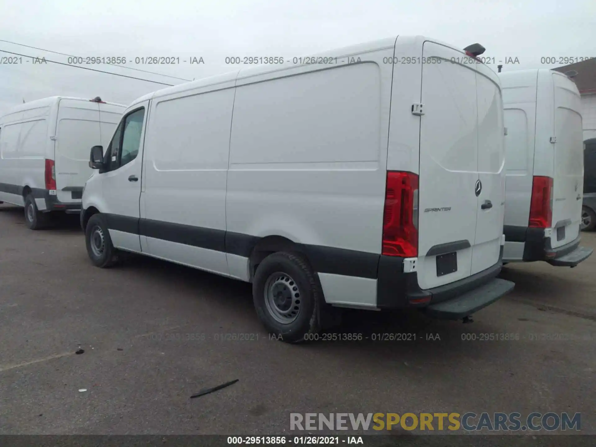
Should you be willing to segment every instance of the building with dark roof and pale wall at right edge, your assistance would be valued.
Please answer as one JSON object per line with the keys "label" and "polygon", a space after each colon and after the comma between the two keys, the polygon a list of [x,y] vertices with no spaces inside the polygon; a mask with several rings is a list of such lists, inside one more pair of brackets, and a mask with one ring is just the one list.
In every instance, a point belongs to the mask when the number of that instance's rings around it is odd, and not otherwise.
{"label": "building with dark roof and pale wall at right edge", "polygon": [[575,70],[573,78],[582,95],[583,141],[596,138],[596,58],[558,67],[557,72]]}

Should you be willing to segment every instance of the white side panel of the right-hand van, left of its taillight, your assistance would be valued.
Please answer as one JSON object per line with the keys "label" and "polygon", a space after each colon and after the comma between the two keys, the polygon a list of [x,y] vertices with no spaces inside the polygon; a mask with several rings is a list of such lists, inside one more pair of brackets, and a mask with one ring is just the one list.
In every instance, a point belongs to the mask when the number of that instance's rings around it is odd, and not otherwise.
{"label": "white side panel of the right-hand van, left of its taillight", "polygon": [[[508,228],[526,228],[530,217],[536,126],[536,72],[517,77],[510,85],[502,76],[505,136],[505,249],[504,259],[522,260],[524,242]],[[513,239],[513,240],[512,240]],[[519,239],[519,238],[518,238]]]}

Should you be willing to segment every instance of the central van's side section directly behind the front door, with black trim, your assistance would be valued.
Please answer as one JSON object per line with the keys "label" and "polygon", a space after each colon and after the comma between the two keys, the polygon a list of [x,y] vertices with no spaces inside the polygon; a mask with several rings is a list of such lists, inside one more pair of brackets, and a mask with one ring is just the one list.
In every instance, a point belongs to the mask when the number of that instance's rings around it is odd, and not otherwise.
{"label": "central van's side section directly behind the front door, with black trim", "polygon": [[154,98],[141,193],[142,225],[151,229],[144,251],[224,275],[233,87],[227,81]]}

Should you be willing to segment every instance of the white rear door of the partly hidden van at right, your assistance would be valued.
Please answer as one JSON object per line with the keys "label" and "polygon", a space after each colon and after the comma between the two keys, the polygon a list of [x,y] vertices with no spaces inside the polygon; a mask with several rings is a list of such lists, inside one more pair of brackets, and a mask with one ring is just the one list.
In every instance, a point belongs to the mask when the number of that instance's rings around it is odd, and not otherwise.
{"label": "white rear door of the partly hidden van at right", "polygon": [[551,247],[573,242],[582,215],[583,131],[581,99],[572,80],[550,73],[554,83],[554,178]]}

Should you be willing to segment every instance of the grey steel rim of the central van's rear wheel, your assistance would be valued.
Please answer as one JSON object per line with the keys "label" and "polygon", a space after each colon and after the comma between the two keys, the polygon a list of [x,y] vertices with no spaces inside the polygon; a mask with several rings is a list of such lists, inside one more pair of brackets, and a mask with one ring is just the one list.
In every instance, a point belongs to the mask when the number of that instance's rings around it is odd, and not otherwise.
{"label": "grey steel rim of the central van's rear wheel", "polygon": [[269,275],[265,281],[265,306],[269,315],[281,324],[296,321],[302,308],[302,298],[296,281],[283,272]]}

